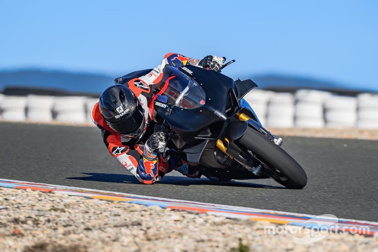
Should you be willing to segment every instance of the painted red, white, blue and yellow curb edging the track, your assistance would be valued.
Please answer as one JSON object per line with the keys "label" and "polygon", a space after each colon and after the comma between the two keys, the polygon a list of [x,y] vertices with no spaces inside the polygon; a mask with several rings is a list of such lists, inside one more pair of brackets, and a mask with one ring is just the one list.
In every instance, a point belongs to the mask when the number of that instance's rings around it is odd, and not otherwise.
{"label": "painted red, white, blue and yellow curb edging the track", "polygon": [[[31,189],[45,192],[59,192],[74,196],[85,196],[110,201],[126,201],[141,205],[158,205],[163,208],[187,210],[209,215],[225,216],[228,218],[252,219],[256,221],[269,221],[276,224],[288,224],[295,226],[314,227],[317,223],[322,226],[332,226],[337,222],[338,230],[350,231],[351,228],[367,227],[365,235],[378,235],[378,222],[358,221],[354,219],[338,219],[327,216],[306,215],[300,213],[279,212],[249,207],[236,207],[230,205],[208,204],[194,201],[182,201],[178,199],[156,198],[113,191],[102,191],[80,187],[67,187],[64,185],[50,185],[19,180],[0,179],[0,187]],[[311,219],[311,220],[310,220]],[[309,221],[310,220],[310,221]],[[311,224],[312,223],[312,224]],[[366,229],[365,229],[366,231]]]}

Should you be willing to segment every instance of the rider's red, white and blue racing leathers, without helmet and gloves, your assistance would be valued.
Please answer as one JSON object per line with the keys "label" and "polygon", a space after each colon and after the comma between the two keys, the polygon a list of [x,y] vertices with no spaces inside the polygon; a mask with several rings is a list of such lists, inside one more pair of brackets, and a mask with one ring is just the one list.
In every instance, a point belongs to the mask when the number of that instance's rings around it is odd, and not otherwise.
{"label": "rider's red, white and blue racing leathers, without helmet and gloves", "polygon": [[[190,64],[198,66],[199,59],[188,58],[177,53],[168,53],[164,56],[160,65],[155,67],[150,73],[139,78],[132,79],[127,83],[123,83],[129,87],[141,101],[144,109],[144,118],[146,120],[144,132],[140,138],[128,138],[113,131],[104,118],[100,114],[99,102],[96,101],[91,109],[91,118],[93,122],[101,129],[102,138],[108,148],[109,153],[115,157],[128,171],[130,171],[140,182],[144,184],[153,184],[161,180],[164,174],[178,170],[180,173],[188,177],[198,177],[198,171],[189,174],[186,162],[183,165],[177,166],[174,159],[170,162],[164,163],[162,160],[147,160],[143,158],[143,145],[154,133],[153,131],[153,90],[156,89],[155,84],[158,84],[163,78],[163,68],[167,65],[173,67],[181,67],[182,65]],[[117,78],[116,82],[121,82],[122,78]],[[150,106],[151,105],[151,106]],[[160,172],[160,174],[159,174]]]}

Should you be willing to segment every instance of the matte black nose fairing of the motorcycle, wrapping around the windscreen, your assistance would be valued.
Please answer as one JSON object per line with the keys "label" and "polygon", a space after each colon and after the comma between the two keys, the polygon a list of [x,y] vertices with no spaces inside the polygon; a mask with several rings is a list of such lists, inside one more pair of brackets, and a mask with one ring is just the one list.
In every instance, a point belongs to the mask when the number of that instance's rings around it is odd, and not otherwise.
{"label": "matte black nose fairing of the motorcycle, wrapping around the windscreen", "polygon": [[[233,116],[226,115],[225,110],[230,89],[236,90],[235,83],[231,78],[212,70],[192,65],[185,67],[193,73],[189,74],[179,69],[201,85],[206,93],[205,104],[197,109],[183,109],[174,105],[168,105],[166,108],[154,106],[154,108],[180,135],[186,145],[195,145],[203,142],[204,139],[218,139],[225,122]],[[166,113],[167,109],[172,111]],[[201,130],[204,128],[210,128],[210,132],[202,133]]]}

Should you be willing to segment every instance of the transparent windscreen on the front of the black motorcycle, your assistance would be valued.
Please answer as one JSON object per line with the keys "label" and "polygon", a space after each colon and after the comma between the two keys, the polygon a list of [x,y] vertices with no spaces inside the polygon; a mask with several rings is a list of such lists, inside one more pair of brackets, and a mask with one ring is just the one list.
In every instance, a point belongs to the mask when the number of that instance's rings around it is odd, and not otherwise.
{"label": "transparent windscreen on the front of the black motorcycle", "polygon": [[195,109],[205,104],[205,92],[197,82],[174,67],[169,66],[164,70],[164,92],[158,100],[184,109]]}

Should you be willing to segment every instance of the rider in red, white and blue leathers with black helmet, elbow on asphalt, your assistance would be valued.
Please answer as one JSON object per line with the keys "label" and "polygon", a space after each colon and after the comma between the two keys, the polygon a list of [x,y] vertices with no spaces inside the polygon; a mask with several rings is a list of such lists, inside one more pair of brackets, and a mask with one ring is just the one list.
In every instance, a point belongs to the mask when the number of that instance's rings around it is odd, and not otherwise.
{"label": "rider in red, white and blue leathers with black helmet, elbow on asphalt", "polygon": [[130,81],[116,78],[115,85],[105,89],[99,101],[93,104],[91,118],[101,129],[109,153],[140,182],[159,182],[174,169],[187,177],[201,176],[197,168],[189,166],[175,154],[168,162],[158,157],[156,150],[165,146],[167,135],[161,131],[154,133],[153,92],[159,89],[166,66],[179,68],[190,64],[219,72],[224,61],[225,58],[217,56],[199,60],[168,53],[147,75]]}

